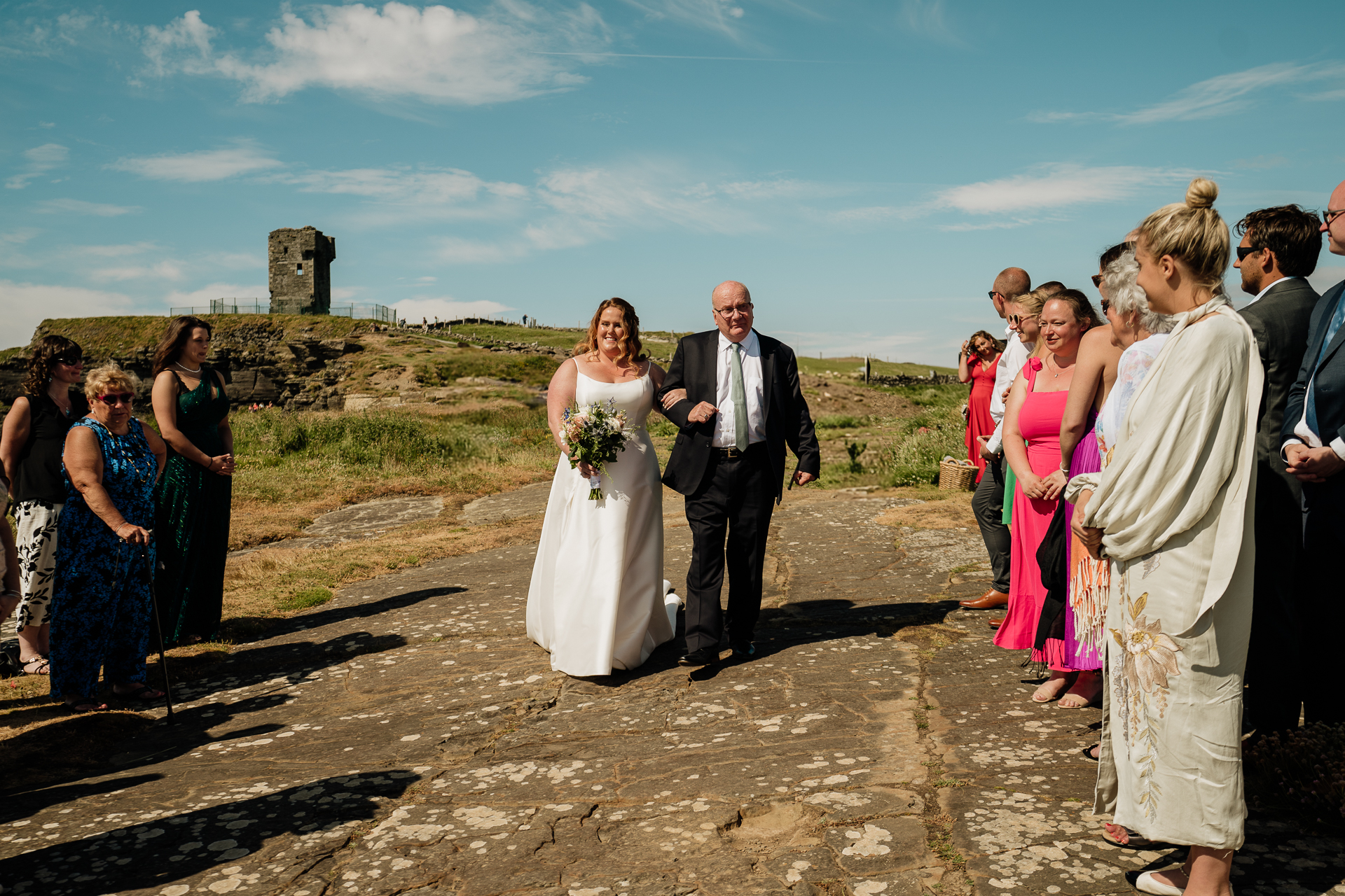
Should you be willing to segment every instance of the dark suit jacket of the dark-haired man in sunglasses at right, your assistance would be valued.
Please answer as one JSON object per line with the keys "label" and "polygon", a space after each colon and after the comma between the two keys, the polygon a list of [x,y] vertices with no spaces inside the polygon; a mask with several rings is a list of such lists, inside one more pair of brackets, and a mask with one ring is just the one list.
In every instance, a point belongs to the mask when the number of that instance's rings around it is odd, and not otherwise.
{"label": "dark suit jacket of the dark-haired man in sunglasses at right", "polygon": [[[1256,459],[1270,462],[1276,473],[1284,473],[1284,459],[1279,454],[1284,443],[1280,438],[1280,431],[1284,429],[1284,406],[1303,367],[1307,330],[1313,322],[1313,309],[1319,300],[1321,296],[1307,285],[1306,279],[1293,277],[1275,283],[1270,292],[1241,310],[1243,320],[1256,336],[1262,368],[1266,371],[1260,412],[1256,415]],[[1298,422],[1297,418],[1294,422]],[[1297,494],[1298,480],[1290,478]]]}

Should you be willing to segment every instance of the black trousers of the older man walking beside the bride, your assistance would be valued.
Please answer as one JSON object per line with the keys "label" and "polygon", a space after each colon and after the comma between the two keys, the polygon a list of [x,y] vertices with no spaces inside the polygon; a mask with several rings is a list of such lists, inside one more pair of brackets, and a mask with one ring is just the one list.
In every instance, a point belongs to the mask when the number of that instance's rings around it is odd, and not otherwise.
{"label": "black trousers of the older man walking beside the bride", "polygon": [[[701,486],[686,496],[686,521],[691,527],[691,568],[686,574],[686,649],[717,649],[729,642],[752,641],[761,613],[761,563],[771,533],[775,482],[765,442],[757,442],[738,458],[725,458],[712,449]],[[728,548],[728,611],[720,609]]]}

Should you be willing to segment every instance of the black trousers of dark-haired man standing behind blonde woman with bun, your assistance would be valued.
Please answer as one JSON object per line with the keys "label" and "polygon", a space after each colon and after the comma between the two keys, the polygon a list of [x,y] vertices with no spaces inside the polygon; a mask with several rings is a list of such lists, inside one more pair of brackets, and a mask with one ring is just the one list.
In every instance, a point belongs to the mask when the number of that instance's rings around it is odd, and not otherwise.
{"label": "black trousers of dark-haired man standing behind blonde woman with bun", "polygon": [[1287,674],[1302,656],[1298,566],[1302,556],[1302,490],[1270,462],[1256,463],[1256,574],[1247,645],[1247,719],[1260,733],[1298,727],[1302,678]]}

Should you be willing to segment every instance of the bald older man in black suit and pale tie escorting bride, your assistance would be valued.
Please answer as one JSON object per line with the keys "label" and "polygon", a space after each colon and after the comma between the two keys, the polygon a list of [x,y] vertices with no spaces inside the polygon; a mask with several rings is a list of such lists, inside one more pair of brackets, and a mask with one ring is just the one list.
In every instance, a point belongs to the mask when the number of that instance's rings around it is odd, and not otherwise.
{"label": "bald older man in black suit and pale tie escorting bride", "polygon": [[[685,666],[718,662],[725,630],[733,656],[756,653],[761,563],[784,484],[784,446],[799,458],[799,485],[818,477],[822,457],[794,351],[752,329],[748,287],[720,283],[710,304],[717,329],[678,341],[659,392],[681,427],[663,482],[686,496],[691,527]],[[720,611],[725,539],[726,614]]]}

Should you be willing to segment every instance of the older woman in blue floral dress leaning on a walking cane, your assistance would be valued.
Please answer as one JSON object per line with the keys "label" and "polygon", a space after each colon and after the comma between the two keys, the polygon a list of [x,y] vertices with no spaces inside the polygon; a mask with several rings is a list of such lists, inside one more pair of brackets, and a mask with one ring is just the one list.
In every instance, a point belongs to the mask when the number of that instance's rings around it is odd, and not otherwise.
{"label": "older woman in blue floral dress leaning on a walking cane", "polygon": [[89,373],[89,415],[66,435],[66,505],[51,596],[51,693],[74,712],[106,709],[98,672],[124,700],[145,684],[155,582],[155,482],[165,449],[130,415],[136,380],[109,364]]}

